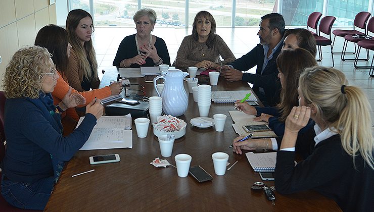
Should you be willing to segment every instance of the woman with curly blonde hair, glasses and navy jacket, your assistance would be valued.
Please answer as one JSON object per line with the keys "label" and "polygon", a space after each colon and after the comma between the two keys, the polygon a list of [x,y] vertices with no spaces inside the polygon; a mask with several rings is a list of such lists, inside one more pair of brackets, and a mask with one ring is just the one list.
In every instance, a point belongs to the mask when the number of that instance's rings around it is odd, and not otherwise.
{"label": "woman with curly blonde hair, glasses and navy jacket", "polygon": [[51,92],[58,78],[51,55],[39,46],[18,50],[5,71],[1,193],[19,208],[44,209],[64,161],[83,146],[103,114],[103,105],[91,101],[82,124],[63,137],[60,110],[84,104],[85,98],[69,89],[55,107]]}

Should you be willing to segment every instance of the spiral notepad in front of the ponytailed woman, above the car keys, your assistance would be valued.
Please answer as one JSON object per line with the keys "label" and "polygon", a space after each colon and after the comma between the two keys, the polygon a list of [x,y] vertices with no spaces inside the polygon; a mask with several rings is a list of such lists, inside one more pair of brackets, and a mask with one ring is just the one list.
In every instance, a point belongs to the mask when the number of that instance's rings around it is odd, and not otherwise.
{"label": "spiral notepad in front of the ponytailed woman, above the car keys", "polygon": [[276,152],[246,153],[248,162],[255,172],[274,172],[276,163]]}

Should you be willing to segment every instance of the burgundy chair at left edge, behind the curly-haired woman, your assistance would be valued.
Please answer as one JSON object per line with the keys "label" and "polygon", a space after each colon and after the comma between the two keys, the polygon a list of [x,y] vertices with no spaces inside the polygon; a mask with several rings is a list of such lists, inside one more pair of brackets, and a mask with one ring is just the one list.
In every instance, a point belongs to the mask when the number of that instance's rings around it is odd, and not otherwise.
{"label": "burgundy chair at left edge, behind the curly-haired woman", "polygon": [[[4,107],[5,107],[5,100],[6,97],[4,95],[3,91],[0,91],[0,163],[2,163],[3,158],[5,156],[5,146],[4,146],[4,141],[5,141],[5,134],[4,134]],[[0,172],[0,183],[1,183],[1,178],[2,172]],[[27,211],[41,211],[41,210],[25,210],[25,209],[20,209],[17,207],[12,206],[9,204],[3,196],[0,194],[0,211],[10,211],[10,212],[27,212]]]}

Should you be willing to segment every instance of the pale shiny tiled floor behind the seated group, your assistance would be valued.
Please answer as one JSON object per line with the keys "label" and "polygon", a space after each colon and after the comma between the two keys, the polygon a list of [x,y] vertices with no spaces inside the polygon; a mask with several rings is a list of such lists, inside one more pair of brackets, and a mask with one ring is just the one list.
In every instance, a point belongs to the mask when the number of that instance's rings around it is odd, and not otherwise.
{"label": "pale shiny tiled floor behind the seated group", "polygon": [[[231,49],[236,58],[240,58],[246,54],[259,42],[257,36],[258,28],[217,28],[216,34],[221,36],[226,42],[228,47]],[[191,34],[192,29],[174,29],[174,28],[155,28],[152,34],[161,37],[165,40],[169,50],[171,63],[176,58],[176,52],[179,48],[183,37]],[[94,33],[94,46],[96,50],[96,57],[99,64],[99,70],[111,67],[113,59],[117,52],[117,48],[121,40],[127,36],[136,33],[134,28],[95,28]],[[343,38],[337,38],[334,51],[340,51],[343,45]],[[352,49],[350,49],[350,47]],[[348,46],[349,51],[353,50],[353,44]],[[322,47],[323,60],[320,63],[322,66],[331,66],[331,55],[330,47]],[[373,52],[370,51],[370,60],[373,56]],[[361,52],[361,56],[364,56],[364,52]],[[347,55],[347,57],[353,57],[353,55]],[[370,104],[374,105],[374,78],[368,75],[368,69],[355,69],[352,61],[341,61],[340,55],[334,55],[335,67],[338,70],[344,72],[349,80],[350,85],[357,85],[363,89],[369,98]],[[369,62],[361,62],[360,65]],[[252,69],[255,71],[255,69]],[[99,71],[99,77],[102,77],[101,71]],[[371,111],[371,119],[374,123],[374,110]],[[372,125],[374,129],[374,124]],[[373,130],[374,131],[374,130]]]}

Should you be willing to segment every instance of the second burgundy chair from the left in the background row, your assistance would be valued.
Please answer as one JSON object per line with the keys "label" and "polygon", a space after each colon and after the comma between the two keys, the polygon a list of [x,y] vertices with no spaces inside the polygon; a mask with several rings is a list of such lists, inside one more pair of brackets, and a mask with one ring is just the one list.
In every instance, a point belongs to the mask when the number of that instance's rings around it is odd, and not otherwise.
{"label": "second burgundy chair from the left in the background row", "polygon": [[[335,22],[336,18],[334,16],[325,16],[321,19],[321,22],[319,23],[319,35],[314,36],[315,41],[318,46],[318,56],[319,59],[317,61],[322,60],[322,48],[321,46],[328,46],[331,47],[331,58],[333,59],[333,66],[334,67],[334,57],[333,57],[333,41],[331,39],[331,28],[333,27],[333,24]],[[326,38],[324,36],[321,36],[320,33],[324,33],[326,35],[329,35],[330,38]]]}

